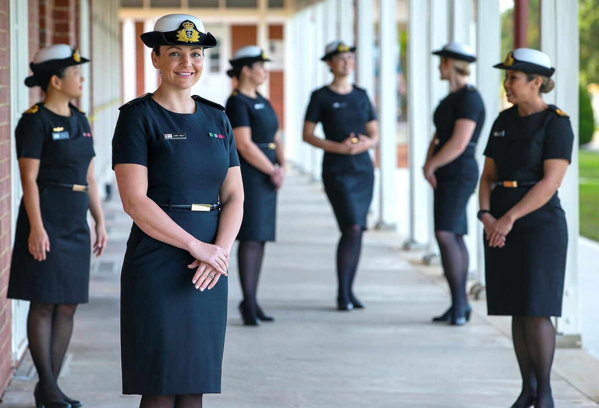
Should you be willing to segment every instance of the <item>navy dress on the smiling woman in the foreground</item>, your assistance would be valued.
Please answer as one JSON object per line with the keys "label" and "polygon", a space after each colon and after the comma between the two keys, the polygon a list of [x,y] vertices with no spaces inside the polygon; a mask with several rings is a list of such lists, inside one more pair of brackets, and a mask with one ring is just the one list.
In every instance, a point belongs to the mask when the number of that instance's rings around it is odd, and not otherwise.
{"label": "navy dress on the smiling woman in the foreground", "polygon": [[[223,107],[196,99],[196,112],[168,111],[144,95],[120,108],[113,168],[147,167],[147,196],[195,238],[214,243],[219,211],[169,205],[212,204],[230,167],[238,166]],[[220,106],[220,108],[219,108]],[[189,252],[156,240],[135,223],[121,273],[123,394],[220,392],[227,279],[200,292]]]}

